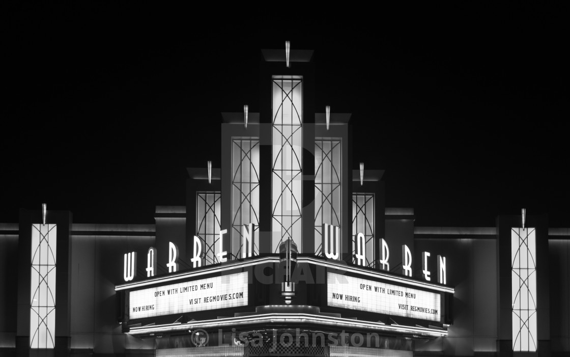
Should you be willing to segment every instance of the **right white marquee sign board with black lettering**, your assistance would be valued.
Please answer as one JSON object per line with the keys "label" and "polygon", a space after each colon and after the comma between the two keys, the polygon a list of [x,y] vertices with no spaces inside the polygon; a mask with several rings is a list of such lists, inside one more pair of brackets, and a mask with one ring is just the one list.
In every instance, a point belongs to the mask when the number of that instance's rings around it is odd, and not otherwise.
{"label": "right white marquee sign board with black lettering", "polygon": [[327,305],[441,321],[440,294],[335,273],[327,273]]}

